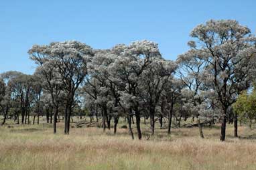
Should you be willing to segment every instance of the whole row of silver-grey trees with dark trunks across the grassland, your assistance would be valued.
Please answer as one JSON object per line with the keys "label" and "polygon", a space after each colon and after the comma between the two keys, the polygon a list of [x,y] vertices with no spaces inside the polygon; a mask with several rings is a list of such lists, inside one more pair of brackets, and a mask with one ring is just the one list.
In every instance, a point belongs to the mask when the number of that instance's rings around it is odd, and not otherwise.
{"label": "whole row of silver-grey trees with dark trunks across the grassland", "polygon": [[107,50],[79,41],[34,45],[28,51],[37,65],[33,75],[1,74],[2,124],[7,118],[29,124],[33,113],[33,124],[46,116],[56,133],[63,116],[68,135],[72,116],[86,114],[101,118],[103,131],[112,120],[117,133],[119,118],[125,118],[131,138],[135,126],[141,139],[141,118],[149,118],[151,135],[156,120],[163,127],[167,119],[171,134],[174,118],[178,126],[192,118],[202,138],[202,122],[220,122],[220,141],[225,141],[227,121],[234,122],[238,137],[238,120],[255,118],[255,104],[251,112],[245,98],[255,82],[256,37],[235,20],[207,21],[190,36],[190,50],[176,61],[164,59],[157,44],[147,40]]}

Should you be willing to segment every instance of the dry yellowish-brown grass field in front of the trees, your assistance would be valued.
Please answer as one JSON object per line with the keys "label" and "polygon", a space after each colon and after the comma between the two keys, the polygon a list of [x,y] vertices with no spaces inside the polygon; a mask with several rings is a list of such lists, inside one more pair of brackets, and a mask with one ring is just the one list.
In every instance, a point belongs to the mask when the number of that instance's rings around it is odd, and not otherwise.
{"label": "dry yellowish-brown grass field in front of the trees", "polygon": [[[256,131],[239,127],[240,139],[234,139],[233,127],[227,127],[227,141],[220,143],[218,126],[198,129],[157,129],[155,137],[131,140],[127,129],[103,133],[97,127],[52,134],[50,124],[0,127],[0,169],[256,169]],[[121,124],[119,124],[121,126]],[[148,131],[148,126],[143,126]],[[135,129],[134,129],[135,131]]]}

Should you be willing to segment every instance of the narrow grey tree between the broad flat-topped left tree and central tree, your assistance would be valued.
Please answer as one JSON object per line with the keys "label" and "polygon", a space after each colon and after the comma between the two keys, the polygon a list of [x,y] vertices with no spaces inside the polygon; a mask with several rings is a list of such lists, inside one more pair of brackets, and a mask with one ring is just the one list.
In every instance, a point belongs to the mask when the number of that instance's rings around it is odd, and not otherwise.
{"label": "narrow grey tree between the broad flat-topped left tree and central tree", "polygon": [[91,112],[98,112],[95,108],[101,108],[103,131],[105,132],[106,122],[108,129],[110,129],[110,113],[113,111],[110,104],[108,104],[111,103],[112,96],[108,81],[110,75],[107,69],[109,64],[113,62],[114,55],[111,56],[111,50],[97,50],[94,53],[94,57],[88,63],[88,75],[86,76],[84,91],[86,92],[86,101],[94,106],[94,110],[91,110]]}

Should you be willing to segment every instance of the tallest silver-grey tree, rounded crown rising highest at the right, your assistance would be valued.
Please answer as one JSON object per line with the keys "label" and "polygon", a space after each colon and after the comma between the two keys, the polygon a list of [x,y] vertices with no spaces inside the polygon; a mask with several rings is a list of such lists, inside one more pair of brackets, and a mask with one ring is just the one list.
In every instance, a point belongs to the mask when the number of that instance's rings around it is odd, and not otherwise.
{"label": "tallest silver-grey tree, rounded crown rising highest at the right", "polygon": [[189,42],[191,48],[204,56],[208,65],[202,77],[222,109],[220,141],[225,141],[228,108],[251,83],[256,38],[250,33],[234,20],[210,20],[190,33],[196,39]]}

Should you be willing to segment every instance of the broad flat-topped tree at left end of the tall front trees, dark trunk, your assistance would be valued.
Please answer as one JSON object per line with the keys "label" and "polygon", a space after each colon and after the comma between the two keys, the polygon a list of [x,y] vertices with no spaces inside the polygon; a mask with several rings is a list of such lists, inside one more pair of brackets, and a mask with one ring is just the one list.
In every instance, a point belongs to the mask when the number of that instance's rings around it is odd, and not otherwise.
{"label": "broad flat-topped tree at left end of the tall front trees, dark trunk", "polygon": [[[53,42],[48,46],[36,45],[29,50],[29,54],[41,66],[40,62],[44,64],[45,60],[52,65],[55,68],[54,74],[58,77],[57,81],[62,82],[66,105],[64,133],[68,135],[74,96],[86,76],[86,60],[93,56],[92,48],[78,41]],[[50,86],[49,82],[48,85]]]}

